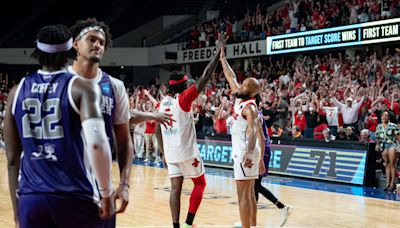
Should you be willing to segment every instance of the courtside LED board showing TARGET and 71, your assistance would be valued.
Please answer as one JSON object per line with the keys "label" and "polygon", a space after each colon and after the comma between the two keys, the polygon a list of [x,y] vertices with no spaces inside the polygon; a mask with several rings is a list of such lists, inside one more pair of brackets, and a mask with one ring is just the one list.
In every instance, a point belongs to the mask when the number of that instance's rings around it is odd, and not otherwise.
{"label": "courtside LED board showing TARGET and 71", "polygon": [[[289,176],[364,184],[367,150],[271,144],[269,172]],[[231,141],[198,139],[206,165],[233,167]]]}

